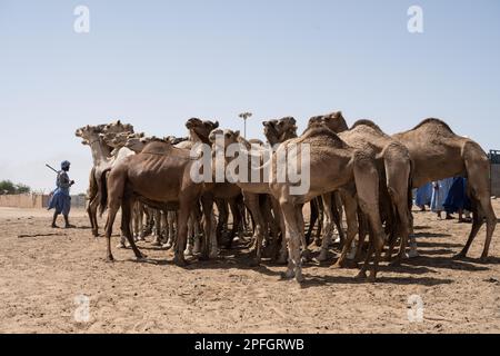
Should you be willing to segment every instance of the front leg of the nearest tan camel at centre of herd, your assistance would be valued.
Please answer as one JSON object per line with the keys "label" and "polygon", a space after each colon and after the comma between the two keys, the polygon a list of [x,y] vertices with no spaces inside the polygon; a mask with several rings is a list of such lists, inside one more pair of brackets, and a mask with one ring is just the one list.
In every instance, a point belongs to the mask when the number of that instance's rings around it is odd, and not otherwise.
{"label": "front leg of the nearest tan camel at centre of herd", "polygon": [[293,278],[301,283],[302,276],[302,259],[300,254],[301,238],[303,229],[301,230],[300,222],[298,221],[298,208],[290,202],[281,202],[281,210],[284,218],[284,236],[288,240],[288,268],[284,274],[286,278]]}

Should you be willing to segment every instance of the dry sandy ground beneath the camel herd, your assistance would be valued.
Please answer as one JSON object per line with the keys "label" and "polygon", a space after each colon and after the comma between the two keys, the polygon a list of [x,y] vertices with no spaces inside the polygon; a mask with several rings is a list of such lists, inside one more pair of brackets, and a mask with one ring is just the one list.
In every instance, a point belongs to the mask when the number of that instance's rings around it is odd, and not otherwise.
{"label": "dry sandy ground beneath the camel herd", "polygon": [[[494,207],[500,216],[500,201]],[[0,208],[0,333],[500,332],[500,228],[488,264],[476,259],[484,229],[471,258],[452,260],[470,225],[417,212],[421,257],[383,264],[376,284],[357,281],[356,269],[310,264],[299,287],[280,279],[282,266],[249,267],[244,249],[183,269],[171,251],[146,243],[148,263],[113,249],[117,261],[109,264],[104,239],[91,237],[83,211],[72,218],[78,229],[53,230],[44,210]],[[418,298],[420,322],[409,303]]]}

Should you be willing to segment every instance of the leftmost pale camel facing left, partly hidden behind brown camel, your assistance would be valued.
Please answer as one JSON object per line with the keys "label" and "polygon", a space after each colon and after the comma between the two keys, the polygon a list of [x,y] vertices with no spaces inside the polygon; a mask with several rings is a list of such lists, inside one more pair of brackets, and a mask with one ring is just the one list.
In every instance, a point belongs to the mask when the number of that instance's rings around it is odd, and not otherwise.
{"label": "leftmost pale camel facing left, partly hidden behind brown camel", "polygon": [[99,126],[90,126],[79,128],[76,131],[76,136],[82,139],[82,145],[90,146],[92,152],[93,166],[89,177],[89,189],[87,206],[87,212],[89,215],[90,225],[92,228],[92,235],[99,236],[99,226],[97,221],[97,211],[99,207],[99,188],[101,181],[102,171],[108,169],[113,161],[111,157],[111,148],[104,142],[102,134],[120,134],[120,132],[133,132],[133,126],[123,125],[120,120],[117,122]]}

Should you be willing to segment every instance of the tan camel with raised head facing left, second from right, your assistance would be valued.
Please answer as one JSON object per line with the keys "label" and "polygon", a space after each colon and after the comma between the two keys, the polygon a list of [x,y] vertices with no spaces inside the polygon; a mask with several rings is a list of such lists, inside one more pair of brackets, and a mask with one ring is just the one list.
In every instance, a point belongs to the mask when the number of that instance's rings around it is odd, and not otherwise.
{"label": "tan camel with raised head facing left, second from right", "polygon": [[[396,237],[400,237],[400,249],[394,265],[401,263],[406,257],[406,247],[411,230],[411,160],[408,149],[386,135],[376,123],[370,120],[357,121],[350,130],[343,130],[347,125],[340,111],[332,112],[322,117],[314,117],[310,119],[310,125],[324,125],[351,147],[362,149],[370,146],[376,152],[376,159],[379,167],[379,177],[381,182],[381,201],[390,200],[384,208],[388,219],[392,221],[389,224],[393,226],[394,231],[391,236],[391,244],[388,251],[388,258],[392,255],[392,249],[396,243]],[[386,199],[384,199],[386,197]],[[363,234],[360,234],[360,244],[358,245],[358,256],[362,247]],[[323,238],[320,260],[324,259],[326,251],[329,244],[329,236]]]}

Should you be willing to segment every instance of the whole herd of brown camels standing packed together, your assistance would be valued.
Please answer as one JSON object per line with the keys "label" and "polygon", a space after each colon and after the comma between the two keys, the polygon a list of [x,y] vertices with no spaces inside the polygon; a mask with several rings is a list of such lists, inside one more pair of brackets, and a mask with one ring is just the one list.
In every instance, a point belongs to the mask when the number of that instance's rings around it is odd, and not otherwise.
{"label": "whole herd of brown camels standing packed together", "polygon": [[[186,128],[187,138],[161,139],[136,134],[131,125],[120,121],[77,130],[77,137],[92,152],[87,211],[96,237],[97,216],[108,211],[107,260],[113,260],[111,234],[121,209],[123,237],[119,247],[129,245],[140,259],[146,256],[136,241],[149,230],[154,235],[153,244],[173,246],[174,263],[184,266],[186,254],[213,258],[220,247],[231,248],[234,237],[243,238],[242,231],[250,229],[253,264],[259,265],[263,257],[288,263],[284,276],[300,283],[302,263],[311,258],[309,247],[317,226],[313,243],[321,246],[320,261],[328,259],[337,231],[341,254],[334,267],[344,267],[347,259],[364,259],[358,277],[373,281],[383,250],[383,258],[394,265],[409,257],[409,245],[410,257],[417,254],[412,189],[459,175],[468,177],[473,221],[469,239],[457,257],[467,255],[484,222],[481,259],[488,257],[497,224],[488,157],[478,144],[453,134],[439,119],[423,120],[413,129],[392,136],[369,120],[359,120],[349,128],[340,111],[312,117],[300,136],[292,117],[269,120],[263,122],[263,132],[272,147],[270,154],[266,154],[264,142],[220,129],[217,121],[193,118]],[[213,162],[222,154],[222,162],[217,164],[226,168],[237,157],[251,157],[244,168],[252,177],[264,179],[241,179],[241,167],[222,180],[193,179],[197,170],[203,177],[217,175],[212,168],[200,170],[197,166],[201,157],[197,155],[201,154],[193,151],[199,146],[208,148],[203,156]],[[307,168],[308,189],[293,192],[298,184],[278,178],[280,165],[302,172]],[[304,205],[311,212],[308,231]],[[396,246],[398,253],[393,256]],[[367,275],[369,268],[371,273]]]}

